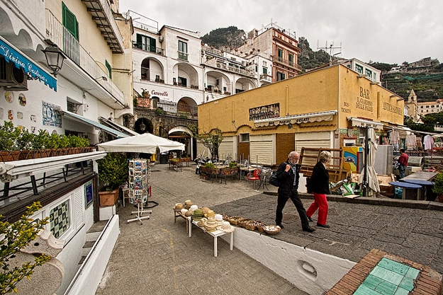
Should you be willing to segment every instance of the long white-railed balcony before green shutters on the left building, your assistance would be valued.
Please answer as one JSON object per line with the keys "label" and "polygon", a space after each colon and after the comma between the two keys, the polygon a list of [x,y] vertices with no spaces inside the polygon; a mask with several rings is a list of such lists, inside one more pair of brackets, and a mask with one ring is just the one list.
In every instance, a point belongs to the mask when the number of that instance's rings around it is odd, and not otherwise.
{"label": "long white-railed balcony before green shutters on the left building", "polygon": [[[108,77],[108,73],[103,71],[88,52],[79,44],[79,41],[69,33],[65,26],[55,18],[52,12],[46,9],[46,37],[55,43],[60,49],[72,59],[72,62],[86,71],[93,79],[99,77]],[[96,79],[103,88],[111,93],[120,103],[123,103],[123,92],[116,86],[111,79]]]}

